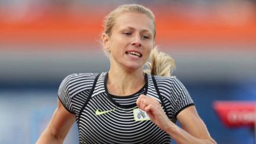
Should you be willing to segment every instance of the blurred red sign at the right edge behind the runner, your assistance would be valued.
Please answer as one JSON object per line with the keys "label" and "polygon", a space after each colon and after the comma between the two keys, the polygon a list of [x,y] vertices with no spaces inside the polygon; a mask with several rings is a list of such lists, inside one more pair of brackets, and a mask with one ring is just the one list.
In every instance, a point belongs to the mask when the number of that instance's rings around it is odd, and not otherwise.
{"label": "blurred red sign at the right edge behind the runner", "polygon": [[255,126],[256,101],[216,101],[213,108],[225,126]]}

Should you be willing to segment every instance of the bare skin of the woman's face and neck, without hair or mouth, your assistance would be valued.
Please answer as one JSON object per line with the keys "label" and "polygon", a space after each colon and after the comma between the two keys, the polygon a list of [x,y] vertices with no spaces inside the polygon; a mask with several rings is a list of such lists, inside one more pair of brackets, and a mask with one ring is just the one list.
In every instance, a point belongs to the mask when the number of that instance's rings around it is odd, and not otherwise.
{"label": "bare skin of the woman's face and neck, without hair or mouth", "polygon": [[[103,34],[103,44],[109,52],[108,92],[114,95],[129,95],[145,84],[143,65],[154,46],[152,20],[145,14],[126,12],[116,18],[110,34]],[[142,57],[127,55],[135,51]]]}

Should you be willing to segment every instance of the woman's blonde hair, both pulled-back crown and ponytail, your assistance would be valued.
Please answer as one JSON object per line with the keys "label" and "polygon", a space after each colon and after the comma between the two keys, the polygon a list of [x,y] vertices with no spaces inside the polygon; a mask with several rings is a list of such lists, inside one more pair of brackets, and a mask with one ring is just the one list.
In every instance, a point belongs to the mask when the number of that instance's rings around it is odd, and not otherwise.
{"label": "woman's blonde hair, both pulled-back crown and ponytail", "polygon": [[[103,33],[111,36],[111,30],[115,24],[116,18],[124,12],[138,12],[140,14],[146,14],[153,21],[154,27],[156,27],[155,15],[150,9],[137,4],[120,5],[105,17]],[[153,31],[153,39],[155,39],[155,36],[156,28]],[[175,69],[174,59],[167,55],[167,53],[159,52],[156,47],[152,50],[149,59],[151,59],[151,62],[146,64],[149,69],[146,69],[144,72],[150,73],[151,75],[171,76],[171,72]]]}

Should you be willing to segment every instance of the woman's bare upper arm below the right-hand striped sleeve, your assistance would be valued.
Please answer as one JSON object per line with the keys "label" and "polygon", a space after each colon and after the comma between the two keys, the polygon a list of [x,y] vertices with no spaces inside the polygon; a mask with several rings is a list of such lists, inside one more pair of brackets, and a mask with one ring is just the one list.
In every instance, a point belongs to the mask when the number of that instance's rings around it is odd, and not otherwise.
{"label": "woman's bare upper arm below the right-hand striped sleeve", "polygon": [[194,105],[191,105],[178,113],[177,119],[182,128],[194,137],[214,141],[207,130],[206,124],[204,124],[203,120],[199,117],[199,114],[197,114]]}

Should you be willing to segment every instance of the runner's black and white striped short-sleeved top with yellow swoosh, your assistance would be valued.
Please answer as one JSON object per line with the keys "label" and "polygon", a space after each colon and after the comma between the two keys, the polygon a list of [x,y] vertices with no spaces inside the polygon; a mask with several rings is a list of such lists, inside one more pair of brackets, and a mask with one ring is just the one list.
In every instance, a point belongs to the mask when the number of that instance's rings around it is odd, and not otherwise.
{"label": "runner's black and white striped short-sleeved top with yellow swoosh", "polygon": [[79,143],[170,143],[171,136],[137,108],[137,97],[155,97],[174,122],[181,110],[193,105],[193,100],[174,76],[145,74],[145,81],[135,94],[119,97],[108,94],[107,72],[67,76],[60,84],[58,97],[76,116]]}

